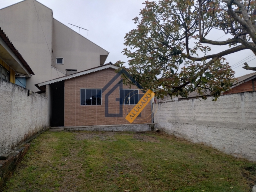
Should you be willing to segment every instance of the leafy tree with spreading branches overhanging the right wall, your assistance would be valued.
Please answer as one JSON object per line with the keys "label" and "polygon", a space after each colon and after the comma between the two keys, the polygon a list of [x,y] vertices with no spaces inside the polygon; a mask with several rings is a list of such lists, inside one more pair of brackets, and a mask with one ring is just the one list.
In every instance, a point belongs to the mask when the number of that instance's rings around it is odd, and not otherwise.
{"label": "leafy tree with spreading branches overhanging the right wall", "polygon": [[[225,55],[250,49],[256,54],[256,2],[251,0],[146,1],[136,29],[125,36],[128,73],[145,89],[187,97],[196,91],[214,100],[234,82]],[[231,34],[225,41],[208,39],[212,30]],[[211,46],[229,45],[218,53]],[[118,61],[117,65],[124,67]],[[245,63],[244,69],[256,70]],[[132,84],[124,75],[124,83]]]}

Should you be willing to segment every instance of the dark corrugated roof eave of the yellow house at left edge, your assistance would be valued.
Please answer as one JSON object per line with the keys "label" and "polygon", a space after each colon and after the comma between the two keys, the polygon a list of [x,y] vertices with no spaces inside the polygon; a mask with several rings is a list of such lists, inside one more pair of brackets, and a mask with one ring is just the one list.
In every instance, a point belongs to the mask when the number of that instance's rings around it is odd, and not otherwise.
{"label": "dark corrugated roof eave of the yellow house at left edge", "polygon": [[[3,32],[2,28],[0,28],[0,38],[3,40],[3,42],[8,46],[8,48],[10,48],[10,50],[14,53],[14,55],[18,58],[18,60],[20,61],[20,63],[18,63],[16,61],[15,58],[12,57],[12,55],[10,55],[10,53],[6,50],[6,48],[4,48],[5,45],[1,45],[0,44],[0,54],[1,54],[1,58],[4,59],[4,61],[6,61],[6,63],[8,65],[10,65],[10,67],[12,67],[17,73],[22,73],[24,74],[24,72],[29,73],[26,75],[32,74],[34,75],[34,72],[32,71],[32,69],[29,67],[28,63],[24,60],[24,58],[20,55],[20,53],[18,52],[18,50],[14,47],[14,45],[12,44],[12,42],[8,39],[8,37],[6,36],[6,34]],[[10,61],[10,62],[7,62]],[[18,66],[19,65],[19,66]],[[24,69],[25,68],[25,69]]]}

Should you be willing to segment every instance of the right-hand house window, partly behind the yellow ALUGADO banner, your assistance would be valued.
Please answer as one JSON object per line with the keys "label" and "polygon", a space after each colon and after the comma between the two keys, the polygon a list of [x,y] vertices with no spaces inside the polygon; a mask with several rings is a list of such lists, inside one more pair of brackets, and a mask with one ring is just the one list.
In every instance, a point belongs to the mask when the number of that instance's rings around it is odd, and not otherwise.
{"label": "right-hand house window, partly behind the yellow ALUGADO banner", "polygon": [[136,105],[139,102],[139,90],[120,89],[120,105]]}

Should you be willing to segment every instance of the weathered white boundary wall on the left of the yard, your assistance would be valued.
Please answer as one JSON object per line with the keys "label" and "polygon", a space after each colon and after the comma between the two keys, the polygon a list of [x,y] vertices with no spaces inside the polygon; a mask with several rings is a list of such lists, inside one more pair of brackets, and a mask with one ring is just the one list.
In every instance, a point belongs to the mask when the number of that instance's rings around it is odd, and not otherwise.
{"label": "weathered white boundary wall on the left of the yard", "polygon": [[0,154],[47,127],[47,97],[0,79]]}

